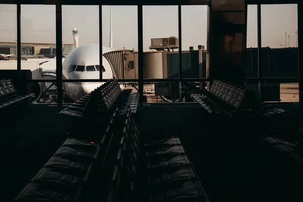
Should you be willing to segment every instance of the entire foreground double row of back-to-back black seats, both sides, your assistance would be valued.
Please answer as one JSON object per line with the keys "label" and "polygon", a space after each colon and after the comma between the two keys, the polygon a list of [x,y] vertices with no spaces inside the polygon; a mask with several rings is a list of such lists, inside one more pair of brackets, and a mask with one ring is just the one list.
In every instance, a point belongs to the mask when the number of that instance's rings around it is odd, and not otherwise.
{"label": "entire foreground double row of back-to-back black seats, both sides", "polygon": [[130,107],[99,144],[67,139],[15,200],[209,201],[180,139],[144,144]]}

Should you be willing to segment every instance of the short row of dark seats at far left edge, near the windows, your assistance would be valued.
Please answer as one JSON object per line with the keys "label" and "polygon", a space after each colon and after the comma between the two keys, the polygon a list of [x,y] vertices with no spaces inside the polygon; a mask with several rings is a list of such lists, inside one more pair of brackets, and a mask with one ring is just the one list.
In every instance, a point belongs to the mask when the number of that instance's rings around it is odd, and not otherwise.
{"label": "short row of dark seats at far left edge, near the windows", "polygon": [[35,93],[21,95],[16,90],[11,79],[0,80],[0,111],[8,110],[9,107],[23,105],[29,97],[35,96]]}

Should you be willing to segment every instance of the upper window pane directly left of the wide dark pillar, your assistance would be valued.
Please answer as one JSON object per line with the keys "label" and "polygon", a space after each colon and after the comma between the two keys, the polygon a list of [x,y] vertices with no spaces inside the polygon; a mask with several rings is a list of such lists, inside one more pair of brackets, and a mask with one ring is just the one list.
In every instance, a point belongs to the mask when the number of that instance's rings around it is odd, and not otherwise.
{"label": "upper window pane directly left of the wide dark pillar", "polygon": [[[182,76],[206,78],[207,6],[181,6]],[[199,19],[199,20],[193,20]]]}

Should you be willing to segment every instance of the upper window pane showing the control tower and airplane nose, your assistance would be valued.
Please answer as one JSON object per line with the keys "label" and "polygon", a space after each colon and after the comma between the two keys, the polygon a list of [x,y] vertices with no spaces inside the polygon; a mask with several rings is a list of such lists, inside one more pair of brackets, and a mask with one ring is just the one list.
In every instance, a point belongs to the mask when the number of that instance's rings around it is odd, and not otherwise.
{"label": "upper window pane showing the control tower and airplane nose", "polygon": [[[85,15],[75,15],[78,13]],[[94,68],[94,65],[99,64],[98,6],[62,6],[62,47],[65,57],[62,70],[64,78],[99,79],[99,72]],[[83,72],[75,74],[67,71],[71,65],[78,65],[75,71]],[[107,75],[103,77],[107,78]],[[63,87],[68,92],[75,91],[72,84],[63,83]]]}

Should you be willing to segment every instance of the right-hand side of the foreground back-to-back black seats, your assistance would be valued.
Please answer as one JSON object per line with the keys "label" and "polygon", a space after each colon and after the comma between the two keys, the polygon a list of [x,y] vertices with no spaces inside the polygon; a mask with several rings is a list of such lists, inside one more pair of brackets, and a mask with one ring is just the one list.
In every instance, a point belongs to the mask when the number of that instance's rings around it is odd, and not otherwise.
{"label": "right-hand side of the foreground back-to-back black seats", "polygon": [[131,113],[126,118],[125,149],[117,163],[121,180],[110,187],[123,190],[119,201],[209,201],[180,139],[144,143]]}

